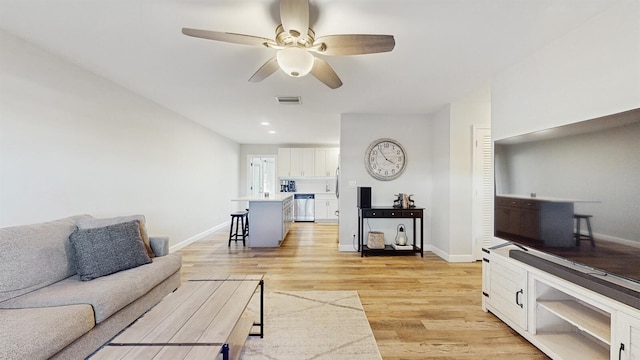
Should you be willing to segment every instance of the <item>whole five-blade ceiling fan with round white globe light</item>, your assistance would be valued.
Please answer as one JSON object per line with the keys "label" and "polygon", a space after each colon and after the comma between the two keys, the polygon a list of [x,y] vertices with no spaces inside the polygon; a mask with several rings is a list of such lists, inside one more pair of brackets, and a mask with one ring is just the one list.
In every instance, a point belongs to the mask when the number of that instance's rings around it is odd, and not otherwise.
{"label": "whole five-blade ceiling fan with round white globe light", "polygon": [[393,50],[393,35],[340,34],[316,38],[309,27],[309,0],[280,0],[280,21],[275,40],[259,36],[228,32],[182,28],[182,33],[197,38],[224,41],[242,45],[266,46],[278,50],[253,76],[251,82],[259,82],[278,68],[293,77],[308,73],[332,89],[342,86],[342,81],[331,66],[312,53],[328,56],[360,55]]}

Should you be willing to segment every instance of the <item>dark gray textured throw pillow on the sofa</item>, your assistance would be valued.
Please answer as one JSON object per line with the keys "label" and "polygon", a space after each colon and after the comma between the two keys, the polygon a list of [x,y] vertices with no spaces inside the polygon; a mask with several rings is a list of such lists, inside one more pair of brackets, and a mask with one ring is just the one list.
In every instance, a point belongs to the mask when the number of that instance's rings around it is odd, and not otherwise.
{"label": "dark gray textured throw pillow on the sofa", "polygon": [[138,221],[93,229],[76,229],[69,236],[76,271],[83,281],[151,262],[145,250]]}

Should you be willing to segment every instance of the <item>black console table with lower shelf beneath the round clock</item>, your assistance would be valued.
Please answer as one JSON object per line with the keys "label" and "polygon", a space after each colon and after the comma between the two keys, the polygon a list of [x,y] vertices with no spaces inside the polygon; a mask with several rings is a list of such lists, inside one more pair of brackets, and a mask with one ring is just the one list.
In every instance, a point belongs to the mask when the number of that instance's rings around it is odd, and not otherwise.
{"label": "black console table with lower shelf beneath the round clock", "polygon": [[[396,209],[394,207],[358,208],[358,252],[364,256],[365,252],[383,255],[404,255],[420,253],[424,257],[424,208]],[[364,243],[364,219],[413,219],[413,250],[396,250],[391,245],[384,249],[369,249]],[[416,220],[420,219],[420,246],[416,243]]]}

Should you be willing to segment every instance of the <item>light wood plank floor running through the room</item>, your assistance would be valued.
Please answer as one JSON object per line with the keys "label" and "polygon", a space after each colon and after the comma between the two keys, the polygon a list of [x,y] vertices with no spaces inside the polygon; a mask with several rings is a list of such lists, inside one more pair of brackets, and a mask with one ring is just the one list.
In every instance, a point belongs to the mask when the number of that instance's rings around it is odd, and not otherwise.
{"label": "light wood plank floor running through the room", "polygon": [[547,359],[482,311],[480,262],[447,263],[429,252],[361,258],[338,251],[334,224],[294,223],[274,249],[228,247],[227,236],[220,231],[180,250],[183,280],[264,274],[266,291],[357,290],[385,360]]}

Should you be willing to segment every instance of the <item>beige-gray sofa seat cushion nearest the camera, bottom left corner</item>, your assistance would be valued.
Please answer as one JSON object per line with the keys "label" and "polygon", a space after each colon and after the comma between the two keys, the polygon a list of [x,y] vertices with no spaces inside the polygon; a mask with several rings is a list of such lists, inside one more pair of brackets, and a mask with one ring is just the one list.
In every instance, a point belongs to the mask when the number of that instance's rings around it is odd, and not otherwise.
{"label": "beige-gray sofa seat cushion nearest the camera, bottom left corner", "polygon": [[48,359],[94,324],[93,309],[86,304],[0,309],[0,358]]}

